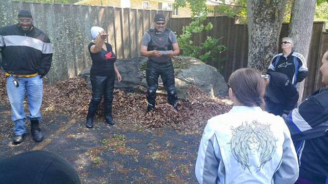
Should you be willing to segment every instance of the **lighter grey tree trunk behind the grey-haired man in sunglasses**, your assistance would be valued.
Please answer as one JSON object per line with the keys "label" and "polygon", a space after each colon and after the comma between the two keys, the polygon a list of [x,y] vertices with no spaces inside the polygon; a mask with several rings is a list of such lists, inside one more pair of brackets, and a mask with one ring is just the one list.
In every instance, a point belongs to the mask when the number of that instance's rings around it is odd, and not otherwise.
{"label": "lighter grey tree trunk behind the grey-haired man in sunglasses", "polygon": [[[288,28],[288,35],[294,41],[294,51],[304,56],[306,64],[310,49],[316,2],[316,0],[294,1],[291,13],[291,23]],[[304,83],[305,80],[297,85],[299,103],[303,100]]]}

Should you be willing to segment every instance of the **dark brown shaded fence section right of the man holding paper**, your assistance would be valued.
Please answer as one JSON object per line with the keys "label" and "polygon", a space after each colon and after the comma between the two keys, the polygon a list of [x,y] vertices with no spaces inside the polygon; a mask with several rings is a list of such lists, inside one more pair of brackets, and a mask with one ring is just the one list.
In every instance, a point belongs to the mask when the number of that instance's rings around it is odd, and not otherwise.
{"label": "dark brown shaded fence section right of the man holding paper", "polygon": [[[168,27],[181,34],[183,26],[189,25],[191,18],[170,18]],[[232,72],[247,67],[248,63],[248,28],[245,24],[235,24],[235,19],[226,16],[207,17],[205,24],[213,24],[213,29],[200,38],[194,37],[194,42],[207,39],[207,36],[221,38],[219,44],[226,45],[227,50],[217,57],[222,58],[221,62],[210,63],[218,69],[224,79],[228,80]],[[288,23],[283,23],[281,27],[280,40],[288,36]],[[328,33],[325,30],[325,22],[314,22],[313,32],[308,55],[309,75],[305,79],[303,98],[306,98],[314,90],[323,87],[321,82],[321,59],[324,52],[328,49]],[[280,41],[279,41],[280,43]],[[282,50],[279,45],[279,53]]]}

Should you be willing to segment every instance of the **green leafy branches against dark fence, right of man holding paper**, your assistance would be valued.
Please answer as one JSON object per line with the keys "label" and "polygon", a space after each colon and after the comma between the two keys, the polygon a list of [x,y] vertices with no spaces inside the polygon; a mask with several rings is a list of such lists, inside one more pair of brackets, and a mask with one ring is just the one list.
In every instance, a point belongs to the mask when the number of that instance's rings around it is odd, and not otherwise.
{"label": "green leafy branches against dark fence, right of man holding paper", "polygon": [[[219,44],[219,39],[208,36],[204,42],[199,41],[203,34],[213,28],[211,22],[207,25],[203,24],[208,13],[211,12],[206,6],[206,0],[175,0],[175,2],[176,8],[185,7],[189,3],[192,12],[193,21],[188,26],[184,26],[182,34],[177,36],[179,47],[183,50],[182,56],[192,56],[205,63],[220,61],[217,54],[225,51],[226,47]],[[194,42],[194,38],[198,41]]]}

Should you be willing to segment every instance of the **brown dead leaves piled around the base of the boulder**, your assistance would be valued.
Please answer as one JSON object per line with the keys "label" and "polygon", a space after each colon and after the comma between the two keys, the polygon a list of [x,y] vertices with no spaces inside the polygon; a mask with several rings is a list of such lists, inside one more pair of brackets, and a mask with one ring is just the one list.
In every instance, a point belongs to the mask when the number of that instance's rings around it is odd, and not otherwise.
{"label": "brown dead leaves piled around the base of the boulder", "polygon": [[[6,81],[0,79],[2,104],[9,103]],[[82,78],[71,78],[54,86],[44,84],[42,112],[57,112],[66,116],[85,118],[91,90]],[[191,86],[186,99],[178,102],[178,111],[167,103],[165,96],[157,96],[153,111],[146,113],[146,95],[114,90],[113,118],[119,124],[140,124],[145,128],[175,127],[182,131],[202,131],[211,117],[231,109],[227,98],[209,98],[199,87]],[[100,103],[96,118],[103,117],[103,102]]]}

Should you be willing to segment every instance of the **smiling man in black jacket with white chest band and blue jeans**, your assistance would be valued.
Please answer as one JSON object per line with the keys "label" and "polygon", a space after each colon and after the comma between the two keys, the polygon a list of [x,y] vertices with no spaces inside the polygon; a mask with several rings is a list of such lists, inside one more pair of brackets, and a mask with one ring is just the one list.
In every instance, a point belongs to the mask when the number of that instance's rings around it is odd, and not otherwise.
{"label": "smiling man in black jacket with white chest band and blue jeans", "polygon": [[23,101],[27,94],[34,141],[43,140],[40,132],[40,107],[42,104],[43,80],[50,69],[52,47],[50,39],[32,24],[29,10],[18,12],[18,24],[0,28],[1,66],[7,76],[7,93],[14,121],[13,142],[19,144],[26,134]]}

